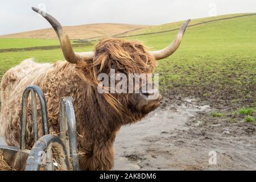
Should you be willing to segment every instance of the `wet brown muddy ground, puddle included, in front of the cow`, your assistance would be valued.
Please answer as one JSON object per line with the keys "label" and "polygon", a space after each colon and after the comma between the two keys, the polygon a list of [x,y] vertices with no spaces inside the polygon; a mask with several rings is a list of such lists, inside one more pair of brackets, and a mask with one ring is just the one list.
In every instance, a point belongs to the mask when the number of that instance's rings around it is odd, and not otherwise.
{"label": "wet brown muddy ground, puddle included, in front of the cow", "polygon": [[[216,109],[209,105],[179,100],[122,127],[114,144],[114,170],[256,170],[254,123],[224,107],[222,117],[212,117]],[[212,152],[216,164],[209,164]]]}

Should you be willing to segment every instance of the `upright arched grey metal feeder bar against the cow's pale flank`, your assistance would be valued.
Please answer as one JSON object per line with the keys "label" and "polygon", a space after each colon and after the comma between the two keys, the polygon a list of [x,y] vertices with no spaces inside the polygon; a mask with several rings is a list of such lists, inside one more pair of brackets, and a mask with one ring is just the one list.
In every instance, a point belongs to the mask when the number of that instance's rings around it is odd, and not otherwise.
{"label": "upright arched grey metal feeder bar against the cow's pale flank", "polygon": [[[36,92],[36,94],[38,94],[39,101],[40,101],[40,108],[41,108],[42,125],[44,129],[43,133],[44,135],[49,134],[46,97],[44,97],[42,90],[38,86],[36,85],[28,86],[22,94],[22,116],[20,118],[20,126],[21,126],[20,150],[24,150],[26,148],[27,103],[28,103],[28,96],[31,91],[34,91]],[[33,129],[35,129],[34,126],[33,126]],[[38,131],[36,130],[34,131],[34,133],[38,133]]]}

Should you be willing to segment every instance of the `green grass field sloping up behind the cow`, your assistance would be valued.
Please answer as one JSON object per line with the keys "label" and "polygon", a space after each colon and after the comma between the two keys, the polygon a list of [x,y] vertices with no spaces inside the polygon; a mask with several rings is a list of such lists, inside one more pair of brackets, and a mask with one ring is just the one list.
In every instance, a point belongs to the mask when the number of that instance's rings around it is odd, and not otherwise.
{"label": "green grass field sloping up behind the cow", "polygon": [[[192,20],[200,21],[225,18]],[[154,27],[151,31],[176,28],[181,22]],[[159,27],[160,28],[159,30]],[[234,107],[255,106],[256,98],[256,15],[221,20],[188,27],[178,51],[167,59],[160,60],[156,73],[160,75],[160,90],[166,96],[175,93],[196,96],[211,103]],[[143,30],[133,32],[141,34]],[[144,30],[147,32],[148,30]],[[140,40],[150,49],[167,46],[175,32],[128,37]],[[24,40],[12,40],[14,45],[0,39],[0,48],[22,47]],[[56,44],[57,40],[26,40],[26,45]],[[25,42],[26,42],[25,41]],[[44,41],[46,42],[44,44]],[[22,43],[23,42],[23,43]],[[27,47],[27,46],[26,46]],[[94,47],[75,48],[75,51],[90,51]],[[35,57],[35,60],[53,63],[63,60],[60,49],[0,53],[0,76],[20,61]]]}

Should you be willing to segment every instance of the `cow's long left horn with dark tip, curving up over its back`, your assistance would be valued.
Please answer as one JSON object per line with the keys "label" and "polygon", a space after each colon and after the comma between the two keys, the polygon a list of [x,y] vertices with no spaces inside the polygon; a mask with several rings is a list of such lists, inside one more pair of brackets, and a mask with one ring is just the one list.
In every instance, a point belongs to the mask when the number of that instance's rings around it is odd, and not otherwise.
{"label": "cow's long left horn with dark tip, curving up over its back", "polygon": [[42,15],[51,24],[52,28],[55,30],[60,40],[60,46],[61,46],[63,55],[69,63],[76,64],[78,60],[90,61],[93,59],[93,55],[94,55],[93,51],[81,52],[81,53],[76,53],[73,51],[68,35],[65,33],[65,31],[63,30],[63,27],[55,18],[53,18],[51,15],[35,7],[32,7],[32,10]]}

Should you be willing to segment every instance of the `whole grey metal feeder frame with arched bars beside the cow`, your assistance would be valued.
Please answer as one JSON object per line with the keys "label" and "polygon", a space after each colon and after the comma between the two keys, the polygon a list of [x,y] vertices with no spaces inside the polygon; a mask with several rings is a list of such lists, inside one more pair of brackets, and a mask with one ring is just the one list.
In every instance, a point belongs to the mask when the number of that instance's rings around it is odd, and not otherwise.
{"label": "whole grey metal feeder frame with arched bars beside the cow", "polygon": [[[27,130],[27,107],[28,96],[31,93],[31,109],[32,109],[32,134],[36,141],[33,148],[26,149],[26,130]],[[41,118],[44,136],[38,139],[38,122],[36,108],[36,94],[40,101]],[[58,163],[63,169],[69,169],[68,158],[72,159],[73,170],[79,170],[78,150],[77,150],[77,133],[76,133],[76,117],[73,107],[72,97],[63,97],[60,101],[60,138],[49,135],[48,116],[46,107],[46,98],[42,90],[36,86],[28,86],[22,95],[22,114],[20,118],[20,148],[11,146],[0,146],[5,159],[15,169],[39,170],[41,164],[38,163],[39,151],[46,152],[45,170],[53,170],[52,149],[55,146],[63,156],[63,159]],[[67,135],[68,133],[68,135]],[[67,152],[69,151],[69,152]],[[26,166],[25,166],[26,164]]]}

